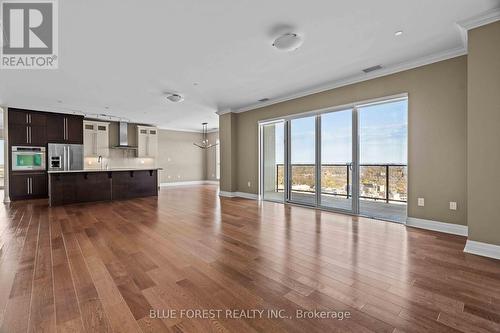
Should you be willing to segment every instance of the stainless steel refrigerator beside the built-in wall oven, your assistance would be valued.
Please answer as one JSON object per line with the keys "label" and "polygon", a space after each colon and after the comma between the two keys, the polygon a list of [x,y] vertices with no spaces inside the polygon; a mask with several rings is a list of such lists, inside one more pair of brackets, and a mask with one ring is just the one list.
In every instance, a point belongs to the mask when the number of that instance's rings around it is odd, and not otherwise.
{"label": "stainless steel refrigerator beside the built-in wall oven", "polygon": [[49,171],[83,170],[83,145],[49,143]]}

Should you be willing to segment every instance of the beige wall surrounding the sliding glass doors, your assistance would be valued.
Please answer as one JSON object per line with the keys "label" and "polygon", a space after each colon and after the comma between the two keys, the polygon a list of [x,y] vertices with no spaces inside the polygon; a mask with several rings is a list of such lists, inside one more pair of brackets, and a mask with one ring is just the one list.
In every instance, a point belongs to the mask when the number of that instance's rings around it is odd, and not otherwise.
{"label": "beige wall surrounding the sliding glass doors", "polygon": [[[467,57],[462,56],[244,113],[224,114],[219,126],[221,189],[257,193],[259,120],[408,93],[409,216],[465,225],[466,86]],[[417,207],[418,197],[425,198],[425,207]],[[457,211],[449,210],[450,201],[458,203]]]}

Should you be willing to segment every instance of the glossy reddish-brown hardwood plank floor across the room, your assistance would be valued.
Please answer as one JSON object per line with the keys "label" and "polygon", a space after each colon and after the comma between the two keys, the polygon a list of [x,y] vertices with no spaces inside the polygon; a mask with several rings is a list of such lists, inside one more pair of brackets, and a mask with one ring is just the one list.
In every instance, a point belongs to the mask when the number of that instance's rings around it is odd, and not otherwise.
{"label": "glossy reddish-brown hardwood plank floor across the room", "polygon": [[[220,199],[210,185],[55,208],[15,202],[0,207],[0,332],[500,332],[500,261],[464,244]],[[222,314],[189,319],[183,309]],[[237,320],[226,309],[291,318]],[[298,319],[297,309],[350,317]]]}

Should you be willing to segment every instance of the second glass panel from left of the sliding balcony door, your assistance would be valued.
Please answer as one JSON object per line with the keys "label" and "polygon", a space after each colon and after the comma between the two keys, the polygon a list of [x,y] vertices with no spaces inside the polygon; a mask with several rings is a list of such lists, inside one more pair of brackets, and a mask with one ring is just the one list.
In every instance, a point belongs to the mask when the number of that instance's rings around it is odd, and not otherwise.
{"label": "second glass panel from left of the sliding balcony door", "polygon": [[316,205],[316,116],[289,121],[290,202]]}

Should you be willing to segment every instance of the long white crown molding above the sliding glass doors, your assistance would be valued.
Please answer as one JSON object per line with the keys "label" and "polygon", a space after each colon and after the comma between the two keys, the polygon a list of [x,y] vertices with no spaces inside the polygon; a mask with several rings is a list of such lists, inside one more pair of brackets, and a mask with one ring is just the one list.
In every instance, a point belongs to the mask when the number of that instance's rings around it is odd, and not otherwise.
{"label": "long white crown molding above the sliding glass doors", "polygon": [[355,84],[355,83],[368,81],[368,80],[376,79],[379,77],[403,72],[403,71],[406,71],[409,69],[413,69],[413,68],[417,68],[417,67],[421,67],[421,66],[425,66],[425,65],[430,65],[430,64],[433,64],[433,63],[436,63],[439,61],[448,60],[448,59],[459,57],[459,56],[462,56],[465,54],[467,54],[467,48],[465,45],[462,45],[462,46],[457,47],[457,48],[448,49],[448,50],[441,51],[438,53],[433,53],[433,54],[430,54],[430,55],[427,55],[427,56],[424,56],[424,57],[421,57],[418,59],[414,59],[414,60],[410,60],[410,61],[406,61],[406,62],[401,62],[401,63],[395,64],[392,66],[388,66],[388,67],[382,68],[381,70],[378,70],[376,72],[372,72],[370,74],[360,74],[360,75],[347,77],[344,79],[330,82],[330,83],[325,84],[325,85],[318,86],[316,88],[312,88],[312,89],[304,90],[304,91],[301,91],[301,92],[298,92],[295,94],[287,95],[285,97],[271,99],[268,102],[252,104],[249,106],[236,108],[236,109],[220,110],[217,112],[217,114],[223,115],[225,113],[230,113],[230,112],[233,112],[233,113],[247,112],[247,111],[259,109],[259,108],[262,108],[265,106],[278,104],[278,103],[290,101],[293,99],[305,97],[308,95],[313,95],[313,94],[317,94],[320,92],[325,92],[328,90],[340,88],[343,86],[348,86],[351,84]]}

